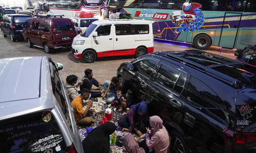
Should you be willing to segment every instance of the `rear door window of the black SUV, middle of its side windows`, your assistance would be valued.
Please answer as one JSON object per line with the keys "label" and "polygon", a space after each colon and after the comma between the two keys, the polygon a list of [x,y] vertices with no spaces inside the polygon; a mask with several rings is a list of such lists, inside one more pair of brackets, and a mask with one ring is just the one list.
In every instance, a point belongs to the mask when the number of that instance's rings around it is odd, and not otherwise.
{"label": "rear door window of the black SUV, middle of its side windows", "polygon": [[169,90],[173,90],[179,76],[179,72],[173,70],[168,66],[162,65],[157,73],[155,82]]}

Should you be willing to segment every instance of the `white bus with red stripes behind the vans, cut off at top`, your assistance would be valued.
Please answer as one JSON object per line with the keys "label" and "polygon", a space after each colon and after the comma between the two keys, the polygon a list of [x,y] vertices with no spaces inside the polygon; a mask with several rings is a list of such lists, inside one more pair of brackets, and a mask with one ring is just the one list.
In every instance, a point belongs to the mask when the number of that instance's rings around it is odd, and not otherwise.
{"label": "white bus with red stripes behind the vans, cut off at top", "polygon": [[93,12],[94,17],[102,19],[99,15],[100,8],[106,6],[108,0],[46,0],[50,11],[48,14],[63,14],[65,17],[72,18],[76,12]]}

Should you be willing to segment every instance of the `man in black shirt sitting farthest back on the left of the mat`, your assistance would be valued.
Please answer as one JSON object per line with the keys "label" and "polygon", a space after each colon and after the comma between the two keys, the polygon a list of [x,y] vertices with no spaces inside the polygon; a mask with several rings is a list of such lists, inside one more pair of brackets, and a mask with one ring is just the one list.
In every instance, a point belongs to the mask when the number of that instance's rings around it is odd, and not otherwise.
{"label": "man in black shirt sitting farthest back on the left of the mat", "polygon": [[[90,90],[90,93],[92,94],[92,98],[100,97],[101,96],[101,90],[102,86],[101,84],[93,78],[93,71],[92,69],[86,69],[84,70],[84,77],[82,78],[82,85],[80,85],[80,91],[82,91],[83,88],[87,88]],[[98,87],[98,89],[92,89],[92,86]]]}

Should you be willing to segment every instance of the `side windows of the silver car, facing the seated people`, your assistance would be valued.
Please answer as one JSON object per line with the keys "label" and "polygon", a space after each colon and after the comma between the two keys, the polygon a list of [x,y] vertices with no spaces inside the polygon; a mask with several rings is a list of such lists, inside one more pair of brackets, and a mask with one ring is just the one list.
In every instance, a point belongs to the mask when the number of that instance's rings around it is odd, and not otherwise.
{"label": "side windows of the silver car, facing the seated people", "polygon": [[65,97],[62,94],[62,89],[61,89],[61,81],[58,78],[58,74],[56,71],[56,68],[53,64],[50,64],[50,70],[51,70],[51,81],[52,81],[52,89],[53,89],[53,94],[58,101],[59,106],[61,107],[61,110],[63,114],[65,115],[67,122],[73,131],[73,127],[71,124],[71,119],[70,119],[70,112],[68,109],[68,103],[65,100]]}

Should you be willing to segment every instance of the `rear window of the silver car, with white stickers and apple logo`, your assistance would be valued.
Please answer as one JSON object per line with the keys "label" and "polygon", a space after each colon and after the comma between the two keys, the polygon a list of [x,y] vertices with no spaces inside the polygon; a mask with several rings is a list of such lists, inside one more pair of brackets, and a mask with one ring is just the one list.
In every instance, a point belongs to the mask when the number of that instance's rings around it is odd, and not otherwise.
{"label": "rear window of the silver car, with white stickers and apple logo", "polygon": [[48,111],[1,120],[0,137],[1,152],[63,153],[67,148],[56,119]]}

